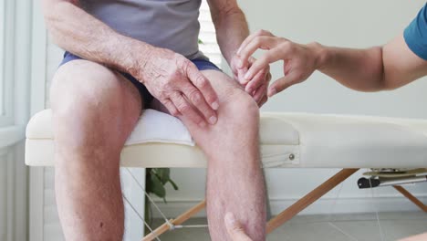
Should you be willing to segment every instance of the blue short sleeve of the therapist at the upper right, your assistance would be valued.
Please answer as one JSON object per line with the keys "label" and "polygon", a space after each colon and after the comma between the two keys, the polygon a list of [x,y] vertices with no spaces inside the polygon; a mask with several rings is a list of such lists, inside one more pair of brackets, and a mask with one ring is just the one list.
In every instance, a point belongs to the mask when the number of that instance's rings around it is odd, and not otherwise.
{"label": "blue short sleeve of the therapist at the upper right", "polygon": [[403,37],[414,54],[427,60],[427,4],[406,27]]}

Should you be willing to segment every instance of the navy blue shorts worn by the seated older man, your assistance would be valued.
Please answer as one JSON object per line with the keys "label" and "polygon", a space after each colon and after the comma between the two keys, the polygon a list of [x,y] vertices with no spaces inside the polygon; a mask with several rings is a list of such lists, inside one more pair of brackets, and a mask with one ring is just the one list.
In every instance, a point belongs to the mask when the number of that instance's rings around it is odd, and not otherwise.
{"label": "navy blue shorts worn by the seated older man", "polygon": [[[66,51],[64,53],[64,58],[62,59],[62,61],[59,64],[59,66],[62,66],[65,63],[68,63],[69,61],[75,60],[75,59],[83,59],[83,58],[79,58],[78,56],[75,56],[75,55],[71,54],[70,52]],[[194,59],[191,59],[191,61],[193,62],[193,64],[199,70],[212,69],[212,70],[221,71],[220,68],[218,68],[217,66],[215,66],[209,60],[206,60],[206,59],[203,59],[203,58],[194,58]],[[151,103],[151,100],[154,99],[153,96],[148,91],[148,89],[140,81],[138,81],[138,79],[135,79],[133,76],[131,76],[128,73],[120,72],[120,74],[123,75],[126,79],[129,79],[130,82],[132,82],[132,84],[140,91],[141,100],[144,100],[144,104],[145,105],[148,105],[148,104]]]}

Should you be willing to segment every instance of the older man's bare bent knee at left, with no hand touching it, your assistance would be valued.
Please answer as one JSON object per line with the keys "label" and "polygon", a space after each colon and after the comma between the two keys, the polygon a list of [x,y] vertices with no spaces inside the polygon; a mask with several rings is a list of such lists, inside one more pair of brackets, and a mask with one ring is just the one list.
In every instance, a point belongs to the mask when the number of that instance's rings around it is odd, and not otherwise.
{"label": "older man's bare bent knee at left, with no hand touching it", "polygon": [[70,149],[100,145],[118,134],[113,131],[119,128],[123,106],[114,72],[79,64],[76,60],[59,68],[50,89],[56,140],[67,141]]}

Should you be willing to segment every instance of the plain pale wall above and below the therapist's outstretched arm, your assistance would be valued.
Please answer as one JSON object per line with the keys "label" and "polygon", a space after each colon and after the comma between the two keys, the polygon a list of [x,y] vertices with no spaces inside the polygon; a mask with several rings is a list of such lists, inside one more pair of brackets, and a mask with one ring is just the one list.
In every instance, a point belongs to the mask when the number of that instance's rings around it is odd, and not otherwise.
{"label": "plain pale wall above and below the therapist's outstretched arm", "polygon": [[[370,47],[401,33],[425,1],[241,1],[252,30],[267,28],[277,36],[300,43],[316,40],[325,45]],[[257,9],[265,9],[261,15]],[[282,71],[272,68],[273,79]],[[427,82],[417,81],[392,92],[360,93],[344,89],[316,73],[289,89],[263,110],[310,111],[426,118]]]}

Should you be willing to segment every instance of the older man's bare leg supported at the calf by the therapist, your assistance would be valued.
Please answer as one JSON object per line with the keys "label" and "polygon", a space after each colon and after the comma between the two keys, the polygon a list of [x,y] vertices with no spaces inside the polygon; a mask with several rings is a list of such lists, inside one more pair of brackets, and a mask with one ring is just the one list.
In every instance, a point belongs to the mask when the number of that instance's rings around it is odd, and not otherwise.
{"label": "older man's bare leg supported at the calf by the therapist", "polygon": [[229,240],[224,215],[236,219],[254,241],[266,239],[266,196],[258,147],[259,110],[233,79],[203,70],[218,94],[218,122],[206,128],[181,117],[207,155],[207,215],[213,240]]}

